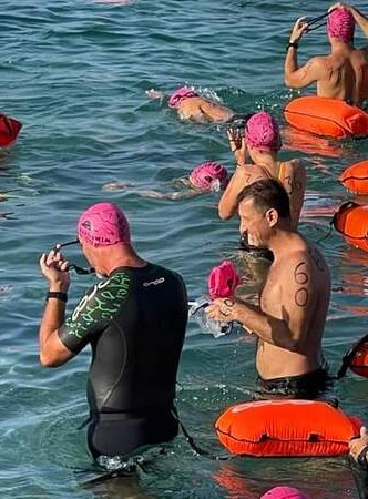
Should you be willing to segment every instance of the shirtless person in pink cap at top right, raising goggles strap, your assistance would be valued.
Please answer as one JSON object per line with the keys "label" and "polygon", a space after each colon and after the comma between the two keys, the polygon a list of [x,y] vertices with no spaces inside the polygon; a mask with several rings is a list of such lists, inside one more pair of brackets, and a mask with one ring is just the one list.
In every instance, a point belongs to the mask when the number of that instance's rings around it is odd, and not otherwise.
{"label": "shirtless person in pink cap at top right, raising goggles strap", "polygon": [[356,22],[368,37],[368,20],[361,12],[341,3],[331,6],[327,18],[330,53],[314,57],[299,68],[299,41],[308,31],[308,22],[299,18],[286,45],[285,84],[292,89],[303,89],[316,83],[318,96],[361,105],[368,98],[368,47],[354,47]]}

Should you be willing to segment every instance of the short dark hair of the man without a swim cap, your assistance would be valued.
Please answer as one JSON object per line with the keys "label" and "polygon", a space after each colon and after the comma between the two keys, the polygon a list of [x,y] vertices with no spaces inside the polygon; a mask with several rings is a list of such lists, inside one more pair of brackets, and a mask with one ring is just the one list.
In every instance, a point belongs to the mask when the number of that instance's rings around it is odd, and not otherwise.
{"label": "short dark hair of the man without a swim cap", "polygon": [[237,204],[253,198],[259,213],[274,208],[280,218],[290,218],[290,202],[284,186],[275,179],[262,179],[246,185],[237,195]]}

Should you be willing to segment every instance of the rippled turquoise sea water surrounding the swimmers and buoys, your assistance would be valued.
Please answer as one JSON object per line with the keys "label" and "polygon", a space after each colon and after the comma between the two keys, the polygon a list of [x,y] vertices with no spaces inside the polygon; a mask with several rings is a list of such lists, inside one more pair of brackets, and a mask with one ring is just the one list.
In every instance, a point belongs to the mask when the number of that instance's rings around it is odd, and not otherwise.
{"label": "rippled turquoise sea water surrounding the swimmers and buoys", "polygon": [[[78,214],[101,200],[126,212],[139,252],[182,273],[191,296],[205,291],[208,269],[237,242],[237,221],[221,222],[216,197],[170,202],[133,190],[106,192],[109,182],[154,187],[185,175],[204,160],[233,161],[221,126],[182,123],[152,88],[193,85],[239,112],[267,109],[283,122],[297,92],[283,85],[284,45],[294,20],[321,13],[292,0],[136,0],[130,4],[60,0],[2,0],[1,108],[23,130],[1,152],[2,257],[0,307],[0,496],[2,498],[257,498],[275,483],[301,485],[311,498],[357,497],[344,458],[248,459],[213,462],[193,456],[180,436],[167,455],[137,479],[92,489],[79,486],[90,467],[84,431],[89,352],[59,369],[38,364],[38,324],[45,283],[41,252],[74,234]],[[360,0],[357,7],[364,9]],[[361,42],[361,37],[359,35]],[[300,59],[327,50],[323,30],[300,43]],[[348,197],[341,170],[368,155],[368,142],[343,144],[289,138],[283,159],[305,157],[307,208],[300,230],[317,241],[329,227],[319,207]],[[367,333],[368,255],[336,233],[323,249],[333,274],[325,350],[333,370],[345,349]],[[83,259],[76,249],[70,255]],[[73,276],[71,303],[91,283]],[[180,369],[178,408],[202,446],[221,451],[213,422],[247,398],[254,383],[254,345],[242,336],[218,340],[191,324]],[[343,407],[368,419],[368,386],[349,375],[337,388]],[[82,476],[83,478],[83,476]]]}

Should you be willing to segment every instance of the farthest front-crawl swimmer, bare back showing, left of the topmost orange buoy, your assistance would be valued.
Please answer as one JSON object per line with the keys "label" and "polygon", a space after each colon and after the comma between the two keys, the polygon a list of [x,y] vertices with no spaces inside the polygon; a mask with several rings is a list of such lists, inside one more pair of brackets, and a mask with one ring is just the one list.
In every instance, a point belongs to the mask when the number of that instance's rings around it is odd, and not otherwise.
{"label": "farthest front-crawl swimmer, bare back showing, left of the topmost orange buoy", "polygon": [[[164,96],[162,92],[156,90],[149,90],[146,94],[151,99]],[[191,120],[196,123],[225,123],[237,116],[231,109],[201,96],[187,86],[175,90],[168,99],[168,108],[177,111],[181,120]]]}

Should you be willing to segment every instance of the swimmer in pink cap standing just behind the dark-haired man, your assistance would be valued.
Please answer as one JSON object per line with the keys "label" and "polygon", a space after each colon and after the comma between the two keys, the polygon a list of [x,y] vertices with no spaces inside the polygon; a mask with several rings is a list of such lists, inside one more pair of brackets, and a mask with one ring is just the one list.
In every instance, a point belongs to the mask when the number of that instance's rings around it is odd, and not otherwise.
{"label": "swimmer in pink cap standing just behind the dark-haired man", "polygon": [[306,189],[306,170],[299,160],[278,160],[282,139],[276,120],[262,111],[248,119],[243,136],[234,129],[227,134],[236,170],[218,202],[219,217],[228,220],[235,215],[237,196],[246,185],[262,179],[276,179],[289,195],[292,224],[296,228]]}

